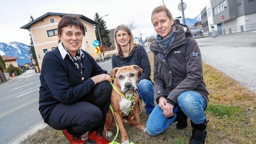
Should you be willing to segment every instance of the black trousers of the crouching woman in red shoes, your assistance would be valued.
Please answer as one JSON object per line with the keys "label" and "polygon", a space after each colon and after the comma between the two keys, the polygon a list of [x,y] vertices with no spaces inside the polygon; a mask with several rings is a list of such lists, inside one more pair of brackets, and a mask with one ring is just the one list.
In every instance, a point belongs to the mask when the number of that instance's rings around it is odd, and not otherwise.
{"label": "black trousers of the crouching woman in red shoes", "polygon": [[110,83],[98,83],[84,100],[71,105],[57,104],[49,116],[48,124],[54,129],[67,129],[76,137],[87,131],[103,131],[111,92]]}

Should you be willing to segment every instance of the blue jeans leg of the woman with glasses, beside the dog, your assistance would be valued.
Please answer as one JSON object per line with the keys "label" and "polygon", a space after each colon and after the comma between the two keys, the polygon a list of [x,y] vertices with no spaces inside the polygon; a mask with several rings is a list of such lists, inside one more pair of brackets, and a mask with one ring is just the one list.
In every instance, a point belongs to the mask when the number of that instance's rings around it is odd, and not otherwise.
{"label": "blue jeans leg of the woman with glasses, beside the dog", "polygon": [[138,90],[139,97],[145,102],[146,114],[149,116],[155,108],[154,103],[154,86],[150,80],[143,79],[139,81]]}

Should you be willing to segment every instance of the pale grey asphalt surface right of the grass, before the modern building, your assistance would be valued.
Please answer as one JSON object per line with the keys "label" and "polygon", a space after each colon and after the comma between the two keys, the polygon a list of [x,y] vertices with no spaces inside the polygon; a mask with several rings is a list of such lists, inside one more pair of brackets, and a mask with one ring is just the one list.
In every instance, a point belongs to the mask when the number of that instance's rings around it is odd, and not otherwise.
{"label": "pale grey asphalt surface right of the grass, before the modern building", "polygon": [[196,40],[206,64],[256,93],[256,31]]}

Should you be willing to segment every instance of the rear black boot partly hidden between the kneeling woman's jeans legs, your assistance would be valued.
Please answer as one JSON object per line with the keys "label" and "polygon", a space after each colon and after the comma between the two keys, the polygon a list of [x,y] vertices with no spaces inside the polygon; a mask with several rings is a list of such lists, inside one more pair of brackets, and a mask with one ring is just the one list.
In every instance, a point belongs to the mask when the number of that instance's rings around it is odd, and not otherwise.
{"label": "rear black boot partly hidden between the kneeling woman's jeans legs", "polygon": [[182,110],[176,112],[177,118],[174,122],[178,121],[176,128],[177,129],[185,129],[188,126],[188,117]]}

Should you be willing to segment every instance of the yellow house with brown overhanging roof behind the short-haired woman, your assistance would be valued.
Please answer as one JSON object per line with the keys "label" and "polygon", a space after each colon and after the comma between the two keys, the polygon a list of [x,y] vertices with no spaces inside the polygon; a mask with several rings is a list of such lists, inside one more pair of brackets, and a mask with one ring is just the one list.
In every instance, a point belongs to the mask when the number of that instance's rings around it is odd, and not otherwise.
{"label": "yellow house with brown overhanging roof behind the short-haired woman", "polygon": [[[21,29],[29,30],[31,34],[40,69],[45,53],[55,49],[58,46],[59,38],[57,36],[57,28],[60,19],[64,15],[67,15],[67,13],[46,13],[45,15],[42,15],[41,17],[38,17],[37,19],[21,27]],[[85,25],[85,37],[83,38],[81,49],[85,50],[94,59],[96,59],[98,54],[95,53],[95,47],[93,46],[93,41],[96,40],[93,24],[98,25],[99,23],[83,15],[77,16],[82,19],[82,22]]]}

